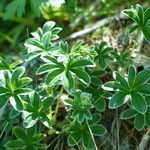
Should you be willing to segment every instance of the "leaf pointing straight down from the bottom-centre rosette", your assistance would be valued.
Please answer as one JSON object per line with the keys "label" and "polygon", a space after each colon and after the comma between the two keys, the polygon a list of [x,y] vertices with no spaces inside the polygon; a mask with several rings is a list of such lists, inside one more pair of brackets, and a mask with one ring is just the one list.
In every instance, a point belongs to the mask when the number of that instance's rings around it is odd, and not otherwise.
{"label": "leaf pointing straight down from the bottom-centre rosette", "polygon": [[91,137],[91,135],[87,132],[82,133],[82,140],[85,148],[87,149],[93,149],[94,148],[94,141]]}

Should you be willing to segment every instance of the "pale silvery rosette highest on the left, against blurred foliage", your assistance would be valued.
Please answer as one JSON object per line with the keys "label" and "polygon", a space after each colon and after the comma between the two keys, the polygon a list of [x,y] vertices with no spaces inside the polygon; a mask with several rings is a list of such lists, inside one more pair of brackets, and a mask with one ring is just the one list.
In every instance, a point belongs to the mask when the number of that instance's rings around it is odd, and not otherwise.
{"label": "pale silvery rosette highest on the left, against blurred foliage", "polygon": [[31,33],[33,36],[25,42],[27,48],[26,60],[34,59],[40,55],[52,54],[54,51],[59,50],[59,46],[52,43],[53,40],[58,39],[58,33],[61,28],[54,27],[55,22],[48,21],[43,25],[43,28],[38,28],[35,32]]}

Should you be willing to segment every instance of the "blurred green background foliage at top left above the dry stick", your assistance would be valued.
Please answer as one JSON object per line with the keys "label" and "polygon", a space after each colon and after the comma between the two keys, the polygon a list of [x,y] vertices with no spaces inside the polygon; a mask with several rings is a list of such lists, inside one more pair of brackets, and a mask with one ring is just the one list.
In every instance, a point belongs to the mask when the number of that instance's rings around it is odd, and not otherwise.
{"label": "blurred green background foliage at top left above the dry stick", "polygon": [[[38,26],[53,20],[63,28],[60,37],[114,14],[140,0],[1,0],[0,53],[23,49],[23,42]],[[143,1],[142,1],[143,2]]]}

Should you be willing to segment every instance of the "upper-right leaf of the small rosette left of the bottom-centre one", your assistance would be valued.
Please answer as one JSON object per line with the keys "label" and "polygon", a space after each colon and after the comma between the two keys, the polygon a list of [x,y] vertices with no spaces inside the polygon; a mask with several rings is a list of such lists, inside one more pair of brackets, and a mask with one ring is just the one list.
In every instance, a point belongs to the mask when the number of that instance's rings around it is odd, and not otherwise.
{"label": "upper-right leaf of the small rosette left of the bottom-centre one", "polygon": [[41,104],[40,104],[40,111],[46,111],[48,108],[50,108],[50,106],[52,106],[54,102],[54,98],[52,97],[47,97],[45,98]]}

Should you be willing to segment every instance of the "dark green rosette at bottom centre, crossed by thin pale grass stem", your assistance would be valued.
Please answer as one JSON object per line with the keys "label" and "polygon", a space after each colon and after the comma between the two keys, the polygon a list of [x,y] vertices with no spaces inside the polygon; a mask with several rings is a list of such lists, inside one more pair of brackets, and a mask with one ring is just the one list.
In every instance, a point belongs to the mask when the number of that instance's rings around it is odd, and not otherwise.
{"label": "dark green rosette at bottom centre, crossed by thin pale grass stem", "polygon": [[66,125],[64,130],[69,133],[68,144],[75,146],[82,142],[85,149],[94,149],[94,136],[103,136],[107,132],[104,126],[98,124],[100,120],[101,115],[93,114],[92,120],[82,123],[75,121]]}

